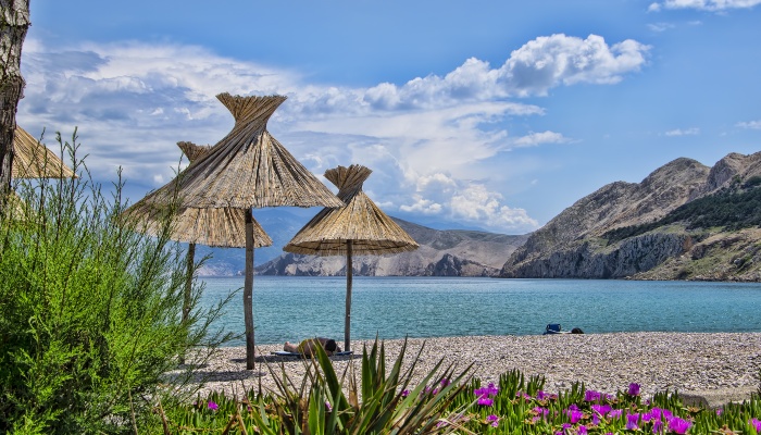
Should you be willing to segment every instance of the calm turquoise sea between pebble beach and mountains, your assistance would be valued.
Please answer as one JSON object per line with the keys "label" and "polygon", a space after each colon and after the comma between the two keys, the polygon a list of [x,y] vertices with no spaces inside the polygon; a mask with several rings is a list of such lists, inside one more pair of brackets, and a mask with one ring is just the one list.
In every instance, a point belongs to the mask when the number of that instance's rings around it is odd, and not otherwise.
{"label": "calm turquoise sea between pebble beach and mountains", "polygon": [[[242,333],[244,278],[203,282],[203,306],[238,291],[214,326]],[[342,339],[345,298],[345,277],[257,276],[257,344]],[[541,334],[548,323],[585,333],[761,332],[761,284],[354,277],[352,339]]]}

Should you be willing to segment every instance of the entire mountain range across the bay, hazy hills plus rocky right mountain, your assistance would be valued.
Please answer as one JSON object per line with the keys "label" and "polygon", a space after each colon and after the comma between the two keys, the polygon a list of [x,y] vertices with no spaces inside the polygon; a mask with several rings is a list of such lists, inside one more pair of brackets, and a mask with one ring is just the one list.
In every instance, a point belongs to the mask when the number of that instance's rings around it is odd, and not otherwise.
{"label": "entire mountain range across the bay, hazy hills plus rocky right mountain", "polygon": [[[277,210],[277,211],[274,211]],[[282,247],[316,213],[254,211],[274,240],[255,250],[257,273],[345,275],[344,257],[295,256]],[[400,219],[420,248],[355,257],[358,275],[761,281],[761,152],[731,153],[712,167],[676,159],[641,183],[611,183],[540,229],[520,236],[434,229]],[[236,275],[241,249],[213,253],[203,275]]]}

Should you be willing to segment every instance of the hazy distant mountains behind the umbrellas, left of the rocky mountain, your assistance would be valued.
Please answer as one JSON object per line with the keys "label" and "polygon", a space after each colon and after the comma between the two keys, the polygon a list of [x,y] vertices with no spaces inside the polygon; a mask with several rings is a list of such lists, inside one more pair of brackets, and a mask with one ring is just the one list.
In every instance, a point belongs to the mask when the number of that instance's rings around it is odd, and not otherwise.
{"label": "hazy distant mountains behind the umbrellas, left of the rocky mountain", "polygon": [[[283,252],[296,233],[316,210],[254,210],[254,217],[273,239],[273,246],[254,251],[260,275],[346,275],[346,258],[298,256]],[[297,214],[298,213],[298,214]],[[470,229],[434,229],[391,217],[420,248],[394,256],[353,259],[354,273],[363,276],[497,276],[504,261],[527,236],[509,236]],[[234,276],[245,270],[242,249],[198,246],[197,258],[211,258],[199,271],[201,276]]]}

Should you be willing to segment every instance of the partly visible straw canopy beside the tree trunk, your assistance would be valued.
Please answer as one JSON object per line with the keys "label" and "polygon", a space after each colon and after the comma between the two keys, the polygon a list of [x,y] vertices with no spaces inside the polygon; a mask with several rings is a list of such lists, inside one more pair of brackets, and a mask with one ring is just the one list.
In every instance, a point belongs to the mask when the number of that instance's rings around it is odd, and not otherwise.
{"label": "partly visible straw canopy beside the tree trunk", "polygon": [[16,126],[13,135],[12,178],[72,178],[74,171],[66,166],[48,147],[40,144],[24,128]]}

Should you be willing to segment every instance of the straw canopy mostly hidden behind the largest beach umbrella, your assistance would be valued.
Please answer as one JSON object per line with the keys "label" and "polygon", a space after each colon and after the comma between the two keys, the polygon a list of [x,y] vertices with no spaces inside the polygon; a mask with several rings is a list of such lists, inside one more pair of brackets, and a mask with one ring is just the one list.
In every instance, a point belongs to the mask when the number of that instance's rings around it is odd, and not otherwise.
{"label": "straw canopy mostly hidden behind the largest beach umbrella", "polygon": [[[212,147],[199,146],[189,141],[177,142],[179,149],[188,157],[192,166],[197,159],[205,156]],[[187,171],[187,170],[186,170]],[[182,175],[180,175],[182,176]],[[172,187],[175,181],[167,186]],[[158,235],[161,231],[163,216],[167,213],[166,203],[155,203],[142,200],[136,202],[124,215],[136,220],[137,228],[144,234]],[[254,220],[253,224],[253,247],[261,248],[272,246],[272,239],[264,232],[261,225]],[[180,207],[177,210],[172,228],[172,239],[189,244],[200,244],[221,248],[245,248],[246,247],[246,210],[232,208],[195,208]]]}

